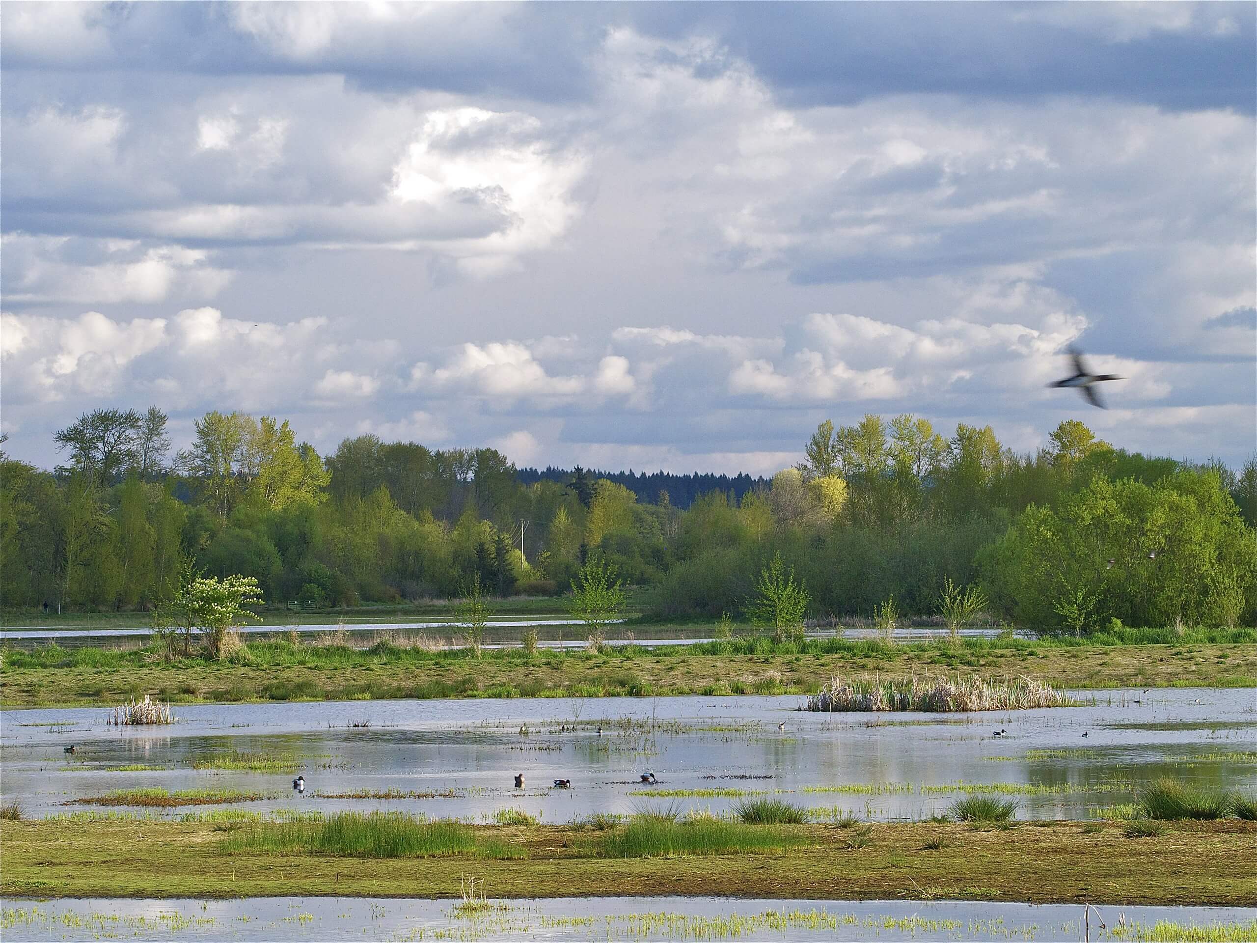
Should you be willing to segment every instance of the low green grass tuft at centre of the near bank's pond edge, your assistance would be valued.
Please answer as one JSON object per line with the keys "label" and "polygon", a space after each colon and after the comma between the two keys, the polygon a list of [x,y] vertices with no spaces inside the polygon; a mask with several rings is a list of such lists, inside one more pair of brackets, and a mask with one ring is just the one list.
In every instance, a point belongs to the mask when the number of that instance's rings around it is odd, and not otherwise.
{"label": "low green grass tuft at centre of the near bank's pond edge", "polygon": [[747,825],[723,819],[667,821],[634,817],[607,832],[597,844],[601,858],[686,858],[703,855],[769,854],[806,844],[779,825]]}

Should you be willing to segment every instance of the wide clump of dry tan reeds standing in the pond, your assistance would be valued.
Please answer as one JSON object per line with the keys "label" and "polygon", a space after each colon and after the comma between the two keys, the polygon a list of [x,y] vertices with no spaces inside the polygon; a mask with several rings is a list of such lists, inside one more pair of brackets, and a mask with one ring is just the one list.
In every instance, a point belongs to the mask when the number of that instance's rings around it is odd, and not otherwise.
{"label": "wide clump of dry tan reeds standing in the pond", "polygon": [[833,675],[827,685],[807,699],[807,710],[1026,710],[1070,707],[1066,694],[1033,678],[985,680],[969,678],[855,678]]}

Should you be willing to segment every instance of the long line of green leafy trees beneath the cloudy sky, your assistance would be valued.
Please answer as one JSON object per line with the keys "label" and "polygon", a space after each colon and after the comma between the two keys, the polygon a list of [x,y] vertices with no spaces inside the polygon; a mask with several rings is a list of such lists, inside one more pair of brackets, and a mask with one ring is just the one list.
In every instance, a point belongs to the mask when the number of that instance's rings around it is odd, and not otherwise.
{"label": "long line of green leafy trees beneath the cloudy sky", "polygon": [[[933,614],[945,586],[1080,632],[1257,614],[1257,460],[1145,456],[1073,420],[1032,454],[991,426],[827,421],[796,468],[710,477],[693,497],[708,477],[522,473],[494,449],[375,435],[321,456],[287,421],[241,412],[205,414],[177,451],[156,406],[84,414],[55,443],[52,472],[0,453],[8,607],[148,610],[187,566],[253,577],[272,604],[554,595],[593,557],[669,619],[753,615],[774,560],[813,617]],[[651,494],[664,482],[686,503]]]}

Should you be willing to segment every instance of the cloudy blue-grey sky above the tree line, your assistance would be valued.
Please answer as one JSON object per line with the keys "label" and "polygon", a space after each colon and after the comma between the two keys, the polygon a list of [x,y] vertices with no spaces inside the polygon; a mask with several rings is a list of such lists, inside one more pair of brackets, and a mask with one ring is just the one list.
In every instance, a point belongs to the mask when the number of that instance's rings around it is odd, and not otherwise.
{"label": "cloudy blue-grey sky above the tree line", "polygon": [[156,404],[771,474],[913,412],[1238,466],[1254,11],[6,1],[5,449]]}

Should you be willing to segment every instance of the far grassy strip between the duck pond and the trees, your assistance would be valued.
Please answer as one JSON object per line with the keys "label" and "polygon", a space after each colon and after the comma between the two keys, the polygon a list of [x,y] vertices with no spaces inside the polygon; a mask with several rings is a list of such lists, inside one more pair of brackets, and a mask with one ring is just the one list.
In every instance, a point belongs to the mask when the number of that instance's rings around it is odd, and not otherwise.
{"label": "far grassy strip between the duck pond and the trees", "polygon": [[[1257,645],[1117,645],[991,649],[978,669],[938,664],[940,645],[848,642],[817,654],[703,654],[710,646],[613,650],[607,654],[515,651],[473,659],[381,645],[290,646],[253,642],[245,663],[186,659],[147,663],[143,653],[62,649],[6,653],[0,704],[116,704],[151,694],[173,703],[468,697],[623,697],[675,694],[811,694],[845,678],[924,678],[977,673],[1028,676],[1056,688],[1257,687]],[[324,649],[324,650],[321,650]],[[672,650],[675,649],[675,650]],[[962,646],[963,649],[963,646]],[[1219,665],[1212,655],[1226,651]],[[1198,655],[1209,658],[1198,658]],[[1100,663],[1105,661],[1104,665]],[[1102,694],[1097,695],[1102,697]]]}

